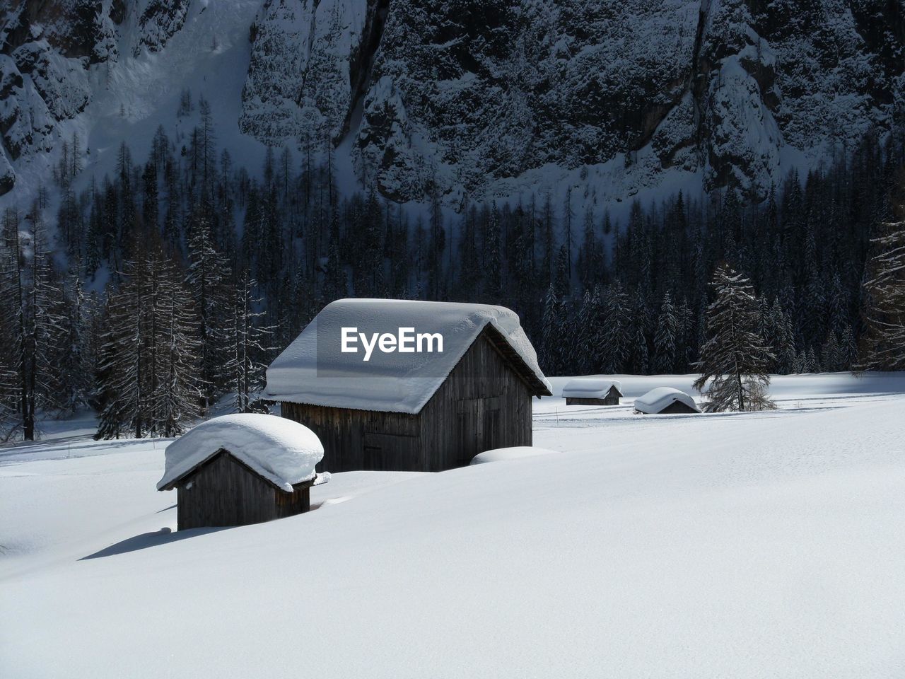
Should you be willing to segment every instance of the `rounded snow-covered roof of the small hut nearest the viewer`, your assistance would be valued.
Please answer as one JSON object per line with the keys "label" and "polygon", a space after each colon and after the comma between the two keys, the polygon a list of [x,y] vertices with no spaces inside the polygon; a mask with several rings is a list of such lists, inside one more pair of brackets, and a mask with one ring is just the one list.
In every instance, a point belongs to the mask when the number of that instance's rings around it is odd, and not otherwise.
{"label": "rounded snow-covered roof of the small hut nearest the viewer", "polygon": [[296,483],[313,479],[314,465],[324,456],[318,436],[298,422],[255,413],[214,417],[167,446],[167,464],[157,490],[169,490],[221,450],[287,492]]}

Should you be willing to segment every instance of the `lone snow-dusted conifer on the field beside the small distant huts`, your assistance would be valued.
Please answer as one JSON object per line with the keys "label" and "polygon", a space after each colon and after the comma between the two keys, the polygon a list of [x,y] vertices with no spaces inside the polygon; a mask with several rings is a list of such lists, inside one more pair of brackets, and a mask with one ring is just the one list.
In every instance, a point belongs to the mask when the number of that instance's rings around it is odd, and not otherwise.
{"label": "lone snow-dusted conifer on the field beside the small distant huts", "polygon": [[754,290],[727,265],[719,266],[710,283],[715,300],[707,310],[707,340],[700,349],[700,378],[694,387],[707,397],[709,412],[766,410],[767,369],[775,359],[758,331]]}

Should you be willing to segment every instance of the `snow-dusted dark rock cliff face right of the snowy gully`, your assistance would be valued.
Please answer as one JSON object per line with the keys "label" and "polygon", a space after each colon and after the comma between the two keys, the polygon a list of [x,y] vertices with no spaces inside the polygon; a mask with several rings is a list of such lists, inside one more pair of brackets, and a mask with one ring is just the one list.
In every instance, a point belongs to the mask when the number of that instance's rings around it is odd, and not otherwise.
{"label": "snow-dusted dark rock cliff face right of the snowy gully", "polygon": [[886,0],[270,0],[252,37],[243,129],[348,131],[398,199],[614,159],[762,196],[891,129],[905,82]]}

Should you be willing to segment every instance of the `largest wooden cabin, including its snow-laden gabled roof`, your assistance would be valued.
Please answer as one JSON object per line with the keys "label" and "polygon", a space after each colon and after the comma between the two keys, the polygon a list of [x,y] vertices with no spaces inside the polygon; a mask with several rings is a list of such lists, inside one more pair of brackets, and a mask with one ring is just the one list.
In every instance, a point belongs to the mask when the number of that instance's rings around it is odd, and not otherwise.
{"label": "largest wooden cabin, including its snow-laden gabled roof", "polygon": [[[439,333],[443,350],[375,349],[366,361],[341,350],[343,328]],[[531,398],[550,394],[509,309],[350,299],[326,306],[273,361],[263,397],[319,436],[319,470],[439,472],[485,450],[531,445]]]}

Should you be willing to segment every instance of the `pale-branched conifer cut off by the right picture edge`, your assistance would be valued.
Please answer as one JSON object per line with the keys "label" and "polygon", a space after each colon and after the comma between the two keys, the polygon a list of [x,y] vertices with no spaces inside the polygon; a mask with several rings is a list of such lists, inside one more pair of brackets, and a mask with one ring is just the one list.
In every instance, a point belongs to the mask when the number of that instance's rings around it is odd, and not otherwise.
{"label": "pale-branched conifer cut off by the right picture edge", "polygon": [[876,253],[867,264],[867,299],[862,368],[905,369],[905,222],[886,224],[872,239]]}

